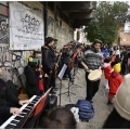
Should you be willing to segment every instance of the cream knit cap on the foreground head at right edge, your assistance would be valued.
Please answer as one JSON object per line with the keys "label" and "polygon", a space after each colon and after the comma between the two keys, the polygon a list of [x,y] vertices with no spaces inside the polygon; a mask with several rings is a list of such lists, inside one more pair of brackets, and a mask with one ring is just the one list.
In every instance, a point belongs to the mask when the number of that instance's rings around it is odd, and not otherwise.
{"label": "cream knit cap on the foreground head at right edge", "polygon": [[130,121],[130,74],[123,77],[123,82],[115,95],[114,106],[122,118]]}

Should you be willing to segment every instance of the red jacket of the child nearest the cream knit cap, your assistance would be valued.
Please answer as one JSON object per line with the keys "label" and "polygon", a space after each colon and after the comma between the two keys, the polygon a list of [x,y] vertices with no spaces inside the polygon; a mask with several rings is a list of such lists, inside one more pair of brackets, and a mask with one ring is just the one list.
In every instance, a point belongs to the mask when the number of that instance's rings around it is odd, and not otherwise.
{"label": "red jacket of the child nearest the cream knit cap", "polygon": [[113,72],[108,78],[109,92],[116,93],[122,81],[123,80],[121,75],[119,75],[119,73]]}

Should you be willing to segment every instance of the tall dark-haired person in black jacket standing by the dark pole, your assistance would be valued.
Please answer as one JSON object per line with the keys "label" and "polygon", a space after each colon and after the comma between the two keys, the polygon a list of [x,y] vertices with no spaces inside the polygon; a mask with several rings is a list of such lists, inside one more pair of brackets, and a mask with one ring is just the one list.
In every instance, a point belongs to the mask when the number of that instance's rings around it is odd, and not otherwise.
{"label": "tall dark-haired person in black jacket standing by the dark pole", "polygon": [[[53,55],[53,50],[52,50],[53,43],[54,43],[54,38],[47,37],[44,46],[41,47],[42,70],[47,74],[47,76],[43,77],[44,92],[48,91],[50,82],[52,82],[51,77],[54,72],[54,55]],[[51,92],[53,93],[53,89]]]}

